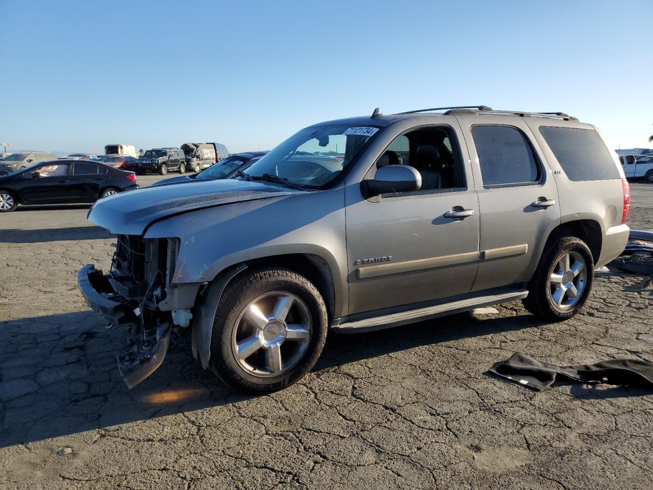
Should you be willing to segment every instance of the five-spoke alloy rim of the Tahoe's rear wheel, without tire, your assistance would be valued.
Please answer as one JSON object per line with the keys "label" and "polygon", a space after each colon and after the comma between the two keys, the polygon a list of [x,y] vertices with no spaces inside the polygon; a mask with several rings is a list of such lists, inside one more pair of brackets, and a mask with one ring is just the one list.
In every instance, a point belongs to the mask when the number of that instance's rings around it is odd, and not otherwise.
{"label": "five-spoke alloy rim of the Tahoe's rear wheel, without tire", "polygon": [[549,279],[551,300],[561,310],[580,301],[587,283],[587,265],[578,252],[567,252],[554,268]]}

